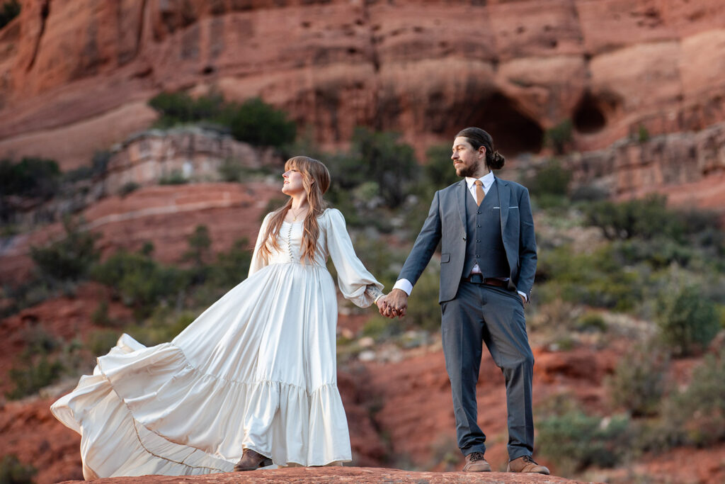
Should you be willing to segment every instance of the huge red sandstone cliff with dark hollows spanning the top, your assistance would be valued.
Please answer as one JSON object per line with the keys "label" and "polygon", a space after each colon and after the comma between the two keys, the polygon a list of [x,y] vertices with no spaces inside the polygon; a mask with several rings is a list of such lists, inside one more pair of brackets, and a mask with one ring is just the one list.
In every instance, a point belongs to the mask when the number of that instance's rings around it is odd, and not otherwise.
{"label": "huge red sandstone cliff with dark hollows spanning the top", "polygon": [[262,96],[328,147],[360,124],[423,145],[478,125],[536,152],[572,118],[595,149],[725,119],[718,0],[21,3],[0,31],[0,152],[65,168],[147,126],[162,89]]}

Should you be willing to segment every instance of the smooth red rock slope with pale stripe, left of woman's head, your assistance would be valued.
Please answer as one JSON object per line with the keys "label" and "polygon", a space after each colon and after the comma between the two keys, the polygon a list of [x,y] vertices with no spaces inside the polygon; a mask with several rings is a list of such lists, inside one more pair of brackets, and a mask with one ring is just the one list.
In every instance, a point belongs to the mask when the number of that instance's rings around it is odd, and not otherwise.
{"label": "smooth red rock slope with pale stripe, left of woman's head", "polygon": [[[236,239],[254,245],[269,200],[278,197],[279,182],[147,186],[125,197],[105,197],[76,214],[99,234],[103,255],[138,250],[154,244],[154,258],[178,262],[196,226],[206,225],[212,250],[228,250]],[[62,223],[7,237],[0,249],[0,282],[25,279],[33,263],[30,247],[64,237]],[[242,275],[242,277],[244,274]]]}

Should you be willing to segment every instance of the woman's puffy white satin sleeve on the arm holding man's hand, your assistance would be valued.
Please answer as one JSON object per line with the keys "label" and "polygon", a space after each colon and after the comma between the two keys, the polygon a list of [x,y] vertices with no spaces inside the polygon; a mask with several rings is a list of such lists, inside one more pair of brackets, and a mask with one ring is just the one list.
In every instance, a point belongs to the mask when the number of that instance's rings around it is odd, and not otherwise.
{"label": "woman's puffy white satin sleeve on the arm holding man's hand", "polygon": [[383,290],[383,284],[378,282],[373,274],[363,266],[355,255],[352,241],[345,227],[345,218],[340,210],[330,208],[326,210],[327,219],[327,250],[337,269],[337,285],[345,299],[352,301],[360,308],[367,308],[373,304],[365,289],[368,285]]}

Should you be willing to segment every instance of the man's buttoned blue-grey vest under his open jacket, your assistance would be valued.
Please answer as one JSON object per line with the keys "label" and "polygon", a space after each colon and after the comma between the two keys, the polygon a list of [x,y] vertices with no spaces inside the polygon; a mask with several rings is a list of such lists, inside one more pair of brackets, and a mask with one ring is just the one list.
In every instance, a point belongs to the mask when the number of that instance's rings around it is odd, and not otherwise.
{"label": "man's buttoned blue-grey vest under his open jacket", "polygon": [[[501,208],[498,183],[494,181],[489,192],[476,206],[470,193],[465,197],[466,238],[463,277],[471,274],[476,263],[484,277],[506,278],[510,275],[506,250],[501,238]],[[496,207],[496,208],[494,208]]]}

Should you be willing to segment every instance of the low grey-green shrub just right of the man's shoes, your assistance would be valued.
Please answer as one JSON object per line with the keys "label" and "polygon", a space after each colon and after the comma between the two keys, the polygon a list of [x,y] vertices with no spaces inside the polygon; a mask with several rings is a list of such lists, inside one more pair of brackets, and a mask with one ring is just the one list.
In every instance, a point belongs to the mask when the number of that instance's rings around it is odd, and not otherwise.
{"label": "low grey-green shrub just right of the man's shoes", "polygon": [[626,416],[595,417],[579,410],[539,419],[539,454],[557,462],[562,475],[591,465],[614,467],[627,455],[631,435]]}

